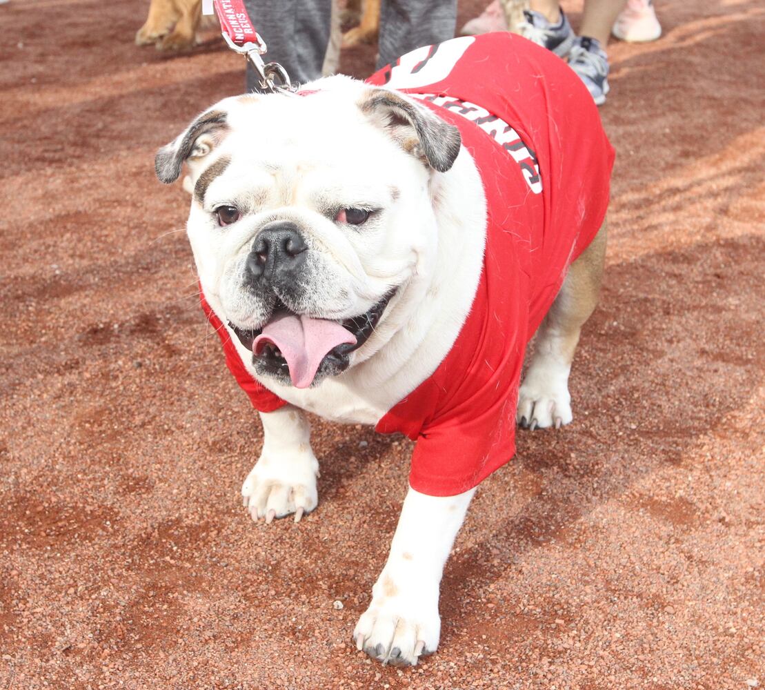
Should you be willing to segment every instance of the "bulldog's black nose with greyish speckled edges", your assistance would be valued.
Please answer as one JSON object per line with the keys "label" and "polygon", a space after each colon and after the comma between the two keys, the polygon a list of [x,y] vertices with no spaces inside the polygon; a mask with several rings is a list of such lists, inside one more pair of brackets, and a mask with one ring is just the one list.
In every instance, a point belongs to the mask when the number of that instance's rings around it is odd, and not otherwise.
{"label": "bulldog's black nose with greyish speckled edges", "polygon": [[303,267],[306,249],[295,223],[276,220],[264,226],[252,242],[246,273],[252,280],[290,281]]}

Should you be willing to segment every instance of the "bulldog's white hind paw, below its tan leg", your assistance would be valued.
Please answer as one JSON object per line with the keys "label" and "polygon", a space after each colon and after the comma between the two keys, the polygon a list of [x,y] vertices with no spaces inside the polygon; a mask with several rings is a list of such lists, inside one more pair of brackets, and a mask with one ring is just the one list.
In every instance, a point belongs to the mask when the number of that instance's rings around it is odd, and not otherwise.
{"label": "bulldog's white hind paw, below its tan leg", "polygon": [[518,393],[516,421],[522,428],[561,428],[571,422],[568,367],[542,363],[529,367]]}

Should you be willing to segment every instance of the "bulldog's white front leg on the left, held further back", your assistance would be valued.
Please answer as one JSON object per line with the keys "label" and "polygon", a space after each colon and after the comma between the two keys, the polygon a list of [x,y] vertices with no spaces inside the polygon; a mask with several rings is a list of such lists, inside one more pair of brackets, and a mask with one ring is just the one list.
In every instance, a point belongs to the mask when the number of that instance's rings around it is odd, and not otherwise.
{"label": "bulldog's white front leg on the left, held further back", "polygon": [[318,503],[319,463],[311,448],[311,426],[296,407],[261,412],[263,450],[242,485],[243,504],[253,520],[295,513],[298,522]]}

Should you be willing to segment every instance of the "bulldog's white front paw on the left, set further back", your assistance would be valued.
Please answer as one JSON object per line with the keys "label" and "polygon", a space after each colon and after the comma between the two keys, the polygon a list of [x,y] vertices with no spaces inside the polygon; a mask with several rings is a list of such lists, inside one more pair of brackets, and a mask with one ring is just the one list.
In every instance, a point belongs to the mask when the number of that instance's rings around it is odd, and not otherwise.
{"label": "bulldog's white front paw on the left, set further back", "polygon": [[299,522],[319,503],[319,464],[311,451],[270,457],[263,454],[242,485],[242,503],[256,522],[295,513]]}

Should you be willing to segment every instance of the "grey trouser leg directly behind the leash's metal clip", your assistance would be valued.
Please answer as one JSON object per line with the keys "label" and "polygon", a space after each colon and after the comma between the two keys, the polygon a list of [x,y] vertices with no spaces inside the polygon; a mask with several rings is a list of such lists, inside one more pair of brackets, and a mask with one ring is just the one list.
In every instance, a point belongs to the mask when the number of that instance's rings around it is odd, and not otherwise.
{"label": "grey trouser leg directly behind the leash's metal clip", "polygon": [[[330,40],[332,0],[245,0],[252,24],[268,46],[265,62],[278,62],[293,83],[321,76]],[[247,90],[259,90],[255,70],[247,66]]]}

